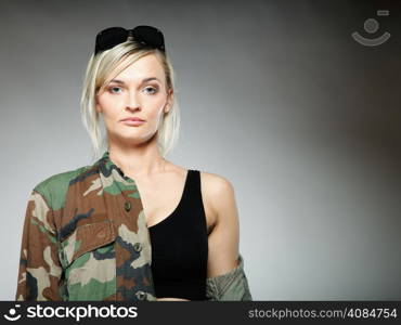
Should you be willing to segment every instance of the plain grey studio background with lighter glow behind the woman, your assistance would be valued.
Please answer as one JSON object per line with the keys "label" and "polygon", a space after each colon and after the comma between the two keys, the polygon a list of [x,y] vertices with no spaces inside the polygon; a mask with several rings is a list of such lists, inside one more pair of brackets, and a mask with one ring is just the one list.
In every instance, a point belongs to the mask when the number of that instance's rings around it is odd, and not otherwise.
{"label": "plain grey studio background with lighter glow behind the woman", "polygon": [[[401,299],[399,4],[1,1],[0,299],[14,299],[30,190],[90,162],[79,98],[95,34],[141,24],[164,30],[177,72],[169,159],[234,185],[254,299]],[[386,43],[351,38],[370,17]]]}

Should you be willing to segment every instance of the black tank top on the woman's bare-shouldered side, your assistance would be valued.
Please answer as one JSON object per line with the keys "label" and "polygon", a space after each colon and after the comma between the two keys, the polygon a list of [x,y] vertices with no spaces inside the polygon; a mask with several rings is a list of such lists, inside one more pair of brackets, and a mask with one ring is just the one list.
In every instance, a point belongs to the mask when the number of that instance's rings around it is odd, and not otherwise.
{"label": "black tank top on the woman's bare-shouldered side", "polygon": [[176,210],[148,231],[156,297],[206,300],[208,237],[198,170],[187,170]]}

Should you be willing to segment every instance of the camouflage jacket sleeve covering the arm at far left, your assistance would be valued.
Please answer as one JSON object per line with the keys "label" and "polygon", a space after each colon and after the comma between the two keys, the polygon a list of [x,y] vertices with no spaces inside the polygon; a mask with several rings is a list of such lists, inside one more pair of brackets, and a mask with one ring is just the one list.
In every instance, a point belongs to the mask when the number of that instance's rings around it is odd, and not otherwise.
{"label": "camouflage jacket sleeve covering the arm at far left", "polygon": [[35,190],[27,204],[15,300],[63,300],[53,211]]}

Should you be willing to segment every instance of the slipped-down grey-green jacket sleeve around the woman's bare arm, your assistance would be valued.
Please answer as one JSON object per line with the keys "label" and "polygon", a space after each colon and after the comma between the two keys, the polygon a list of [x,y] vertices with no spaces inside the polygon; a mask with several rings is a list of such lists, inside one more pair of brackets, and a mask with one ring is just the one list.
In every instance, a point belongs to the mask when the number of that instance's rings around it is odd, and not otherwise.
{"label": "slipped-down grey-green jacket sleeve around the woman's bare arm", "polygon": [[206,280],[206,297],[215,301],[251,301],[244,259],[240,253],[238,264],[228,273]]}

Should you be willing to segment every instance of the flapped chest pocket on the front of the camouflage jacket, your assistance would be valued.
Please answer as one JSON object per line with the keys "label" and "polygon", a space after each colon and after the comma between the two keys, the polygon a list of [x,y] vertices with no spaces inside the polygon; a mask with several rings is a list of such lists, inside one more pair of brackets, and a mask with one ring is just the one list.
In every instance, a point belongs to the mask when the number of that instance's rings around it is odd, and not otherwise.
{"label": "flapped chest pocket on the front of the camouflage jacket", "polygon": [[68,300],[105,300],[116,290],[116,232],[105,220],[79,225],[60,243]]}

